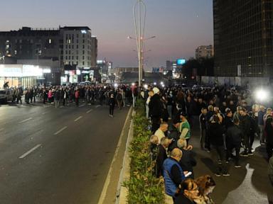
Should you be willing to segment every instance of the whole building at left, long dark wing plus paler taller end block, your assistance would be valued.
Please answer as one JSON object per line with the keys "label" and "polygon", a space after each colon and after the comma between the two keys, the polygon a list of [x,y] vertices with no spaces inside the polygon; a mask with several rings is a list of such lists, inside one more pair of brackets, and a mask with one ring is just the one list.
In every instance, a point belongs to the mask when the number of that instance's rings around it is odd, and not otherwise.
{"label": "whole building at left, long dark wing plus paler taller end block", "polygon": [[97,38],[87,26],[0,32],[0,56],[18,60],[60,60],[60,66],[95,67]]}

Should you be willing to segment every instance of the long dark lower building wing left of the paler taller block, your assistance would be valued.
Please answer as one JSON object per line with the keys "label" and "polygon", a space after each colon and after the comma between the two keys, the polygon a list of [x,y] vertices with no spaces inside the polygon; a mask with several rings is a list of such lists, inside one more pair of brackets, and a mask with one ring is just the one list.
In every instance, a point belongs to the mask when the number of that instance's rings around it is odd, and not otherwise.
{"label": "long dark lower building wing left of the paler taller block", "polygon": [[60,30],[32,29],[0,32],[0,56],[18,60],[53,59],[60,57]]}

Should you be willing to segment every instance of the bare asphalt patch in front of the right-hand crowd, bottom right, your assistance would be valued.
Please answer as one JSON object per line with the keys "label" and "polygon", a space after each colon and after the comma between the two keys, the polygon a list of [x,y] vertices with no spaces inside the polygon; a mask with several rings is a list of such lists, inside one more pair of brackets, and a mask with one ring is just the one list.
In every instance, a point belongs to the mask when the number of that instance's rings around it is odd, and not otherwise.
{"label": "bare asphalt patch in front of the right-hand crowd, bottom right", "polygon": [[[196,128],[197,129],[197,128]],[[268,204],[273,203],[273,186],[267,175],[267,159],[265,146],[259,145],[255,138],[254,155],[240,157],[241,168],[236,169],[235,163],[230,162],[230,176],[216,177],[212,173],[213,160],[211,155],[200,149],[199,131],[193,130],[190,144],[196,152],[197,165],[193,168],[195,177],[210,174],[215,179],[216,187],[211,197],[215,203],[222,204]],[[241,149],[242,150],[242,149]]]}

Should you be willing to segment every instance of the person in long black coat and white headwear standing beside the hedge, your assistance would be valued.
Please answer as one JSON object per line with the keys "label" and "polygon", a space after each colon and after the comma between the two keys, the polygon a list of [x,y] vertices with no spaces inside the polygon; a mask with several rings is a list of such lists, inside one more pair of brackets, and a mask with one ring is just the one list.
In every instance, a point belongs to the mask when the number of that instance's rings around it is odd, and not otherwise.
{"label": "person in long black coat and white headwear standing beside the hedge", "polygon": [[159,96],[159,89],[154,87],[154,96],[151,96],[149,102],[149,115],[151,116],[151,132],[156,132],[159,129],[162,118],[162,102]]}

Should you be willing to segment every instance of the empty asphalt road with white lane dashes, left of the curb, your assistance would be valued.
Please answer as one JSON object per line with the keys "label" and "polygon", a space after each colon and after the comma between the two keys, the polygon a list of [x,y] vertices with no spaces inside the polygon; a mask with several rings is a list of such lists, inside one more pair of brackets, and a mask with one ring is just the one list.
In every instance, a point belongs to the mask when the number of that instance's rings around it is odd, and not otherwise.
{"label": "empty asphalt road with white lane dashes, left of the curb", "polygon": [[95,204],[129,108],[0,105],[0,203]]}

